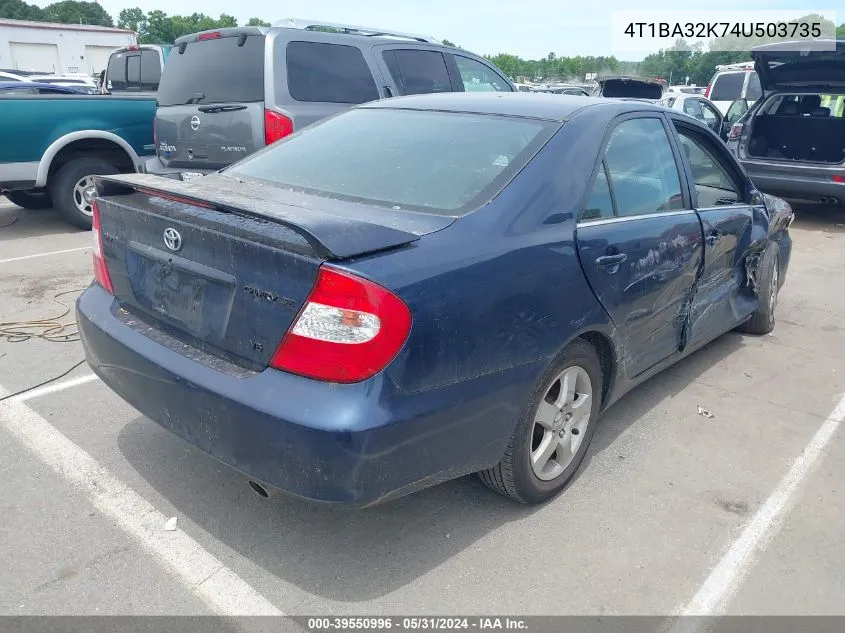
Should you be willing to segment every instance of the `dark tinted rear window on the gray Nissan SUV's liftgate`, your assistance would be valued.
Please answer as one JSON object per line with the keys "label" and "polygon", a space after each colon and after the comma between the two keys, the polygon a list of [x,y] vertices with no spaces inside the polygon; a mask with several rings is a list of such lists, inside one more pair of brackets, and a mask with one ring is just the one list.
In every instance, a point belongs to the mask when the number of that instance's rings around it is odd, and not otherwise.
{"label": "dark tinted rear window on the gray Nissan SUV's liftgate", "polygon": [[167,58],[158,89],[160,106],[264,101],[264,36],[191,42]]}

